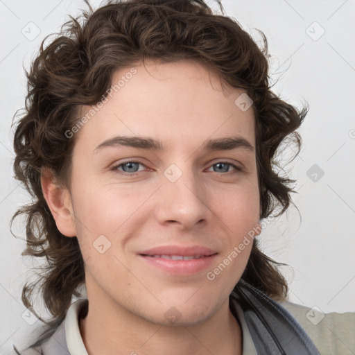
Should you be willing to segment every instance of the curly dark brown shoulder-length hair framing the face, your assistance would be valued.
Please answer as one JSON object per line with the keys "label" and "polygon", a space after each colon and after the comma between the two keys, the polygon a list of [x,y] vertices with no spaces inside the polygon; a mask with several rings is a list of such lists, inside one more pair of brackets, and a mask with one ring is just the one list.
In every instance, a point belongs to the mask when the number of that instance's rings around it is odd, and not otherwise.
{"label": "curly dark brown shoulder-length hair framing the face", "polygon": [[[297,110],[271,91],[268,43],[261,33],[259,48],[236,19],[216,15],[203,0],[109,1],[63,24],[53,42],[26,71],[25,114],[14,137],[15,178],[34,201],[12,216],[26,215],[26,249],[22,255],[45,257],[36,282],[26,283],[22,301],[33,307],[35,288],[53,316],[42,340],[48,338],[67,313],[73,295],[85,285],[84,261],[78,240],[67,238],[55,225],[41,187],[41,169],[50,168],[58,183],[69,188],[75,135],[65,132],[78,122],[80,105],[96,105],[110,88],[112,75],[122,67],[153,58],[161,62],[197,60],[218,73],[224,83],[244,89],[253,101],[256,121],[257,173],[260,218],[288,209],[290,184],[295,180],[275,171],[280,144],[291,139],[300,152],[300,127],[307,108]],[[220,6],[221,7],[221,6]],[[221,7],[224,13],[223,8]],[[81,22],[81,23],[80,23]],[[15,114],[17,116],[17,113]],[[15,119],[14,116],[14,119]],[[12,123],[14,124],[14,123]],[[295,155],[295,156],[296,156]],[[242,278],[275,300],[284,299],[288,286],[277,266],[254,239]]]}

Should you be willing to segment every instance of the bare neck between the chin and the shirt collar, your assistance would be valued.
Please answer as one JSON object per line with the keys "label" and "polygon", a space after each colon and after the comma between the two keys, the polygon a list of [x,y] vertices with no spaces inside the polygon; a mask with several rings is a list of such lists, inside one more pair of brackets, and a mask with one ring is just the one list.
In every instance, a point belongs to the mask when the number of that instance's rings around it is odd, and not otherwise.
{"label": "bare neck between the chin and the shirt collar", "polygon": [[88,299],[79,327],[89,355],[242,354],[241,327],[228,299],[208,320],[187,327],[149,322],[113,300]]}

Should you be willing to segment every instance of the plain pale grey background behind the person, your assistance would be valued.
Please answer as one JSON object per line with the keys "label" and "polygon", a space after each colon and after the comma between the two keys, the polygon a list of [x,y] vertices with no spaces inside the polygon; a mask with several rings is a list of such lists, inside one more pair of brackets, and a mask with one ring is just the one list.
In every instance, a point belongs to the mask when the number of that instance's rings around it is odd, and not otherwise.
{"label": "plain pale grey background behind the person", "polygon": [[[100,1],[92,1],[96,8]],[[208,1],[217,12],[218,6]],[[300,155],[284,166],[297,180],[297,206],[267,223],[259,236],[263,250],[282,268],[291,302],[327,313],[355,311],[355,1],[223,1],[255,39],[255,28],[269,43],[274,91],[310,110],[300,130]],[[20,256],[24,241],[10,234],[9,221],[29,196],[13,178],[12,116],[24,107],[26,77],[40,42],[56,33],[68,14],[78,15],[83,1],[0,0],[1,26],[1,273],[0,353],[40,325],[26,317],[21,287],[37,261]],[[285,147],[284,157],[292,153]],[[24,218],[14,223],[25,237]],[[28,311],[27,311],[28,312]]]}

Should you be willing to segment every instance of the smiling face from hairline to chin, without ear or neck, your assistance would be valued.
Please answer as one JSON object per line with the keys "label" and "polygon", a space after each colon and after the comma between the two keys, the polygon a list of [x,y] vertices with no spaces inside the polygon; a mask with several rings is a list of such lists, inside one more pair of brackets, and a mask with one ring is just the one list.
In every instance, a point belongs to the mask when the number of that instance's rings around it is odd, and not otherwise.
{"label": "smiling face from hairline to chin, without ear or neck", "polygon": [[[73,150],[73,234],[88,297],[158,324],[169,315],[198,324],[227,302],[259,223],[252,107],[241,110],[243,92],[223,92],[196,62],[130,69],[114,74],[119,89]],[[223,138],[236,144],[206,144]]]}

